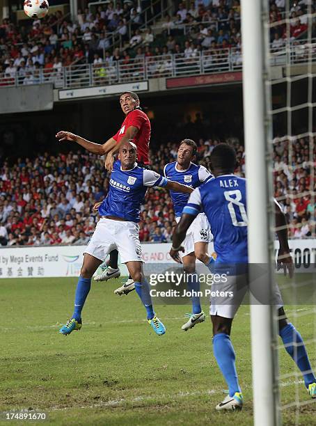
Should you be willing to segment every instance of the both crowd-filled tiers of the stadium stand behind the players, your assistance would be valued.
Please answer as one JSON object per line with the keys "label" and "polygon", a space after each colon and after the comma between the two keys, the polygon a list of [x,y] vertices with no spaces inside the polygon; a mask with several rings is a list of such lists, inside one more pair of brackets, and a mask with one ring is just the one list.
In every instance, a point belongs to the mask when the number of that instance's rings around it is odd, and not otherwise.
{"label": "both crowd-filled tiers of the stadium stand behind the players", "polygon": [[[120,81],[136,81],[141,72],[149,78],[175,72],[194,74],[198,69],[218,72],[226,70],[229,61],[234,70],[241,68],[239,1],[177,1],[174,12],[166,10],[164,1],[157,1],[155,10],[148,8],[148,3],[141,1],[141,9],[132,1],[117,1],[116,8],[111,2],[97,5],[79,10],[77,22],[61,12],[41,21],[29,21],[30,26],[3,19],[0,86],[52,79],[56,84],[63,80],[65,68],[70,70],[70,77],[75,77],[78,67],[83,66],[80,64],[88,64],[92,72],[93,78],[88,75],[87,84],[116,81],[117,70]],[[304,61],[310,54],[310,47],[306,49],[304,44],[306,2],[292,1],[290,35],[282,23],[284,1],[270,3],[270,21],[276,22],[270,34],[275,60],[279,60],[285,44],[290,43],[294,61]],[[316,54],[315,44],[311,48]],[[76,84],[84,84],[80,76],[74,79]],[[67,81],[62,84],[68,84]],[[198,161],[206,167],[216,143],[226,140],[235,145],[239,160],[236,172],[244,175],[244,148],[237,138],[210,139],[211,133],[198,118],[195,123],[188,120],[182,124],[182,133],[199,141]],[[174,141],[181,136],[167,134],[166,140],[172,142],[161,145],[152,155],[153,169],[163,173],[164,165],[175,159]],[[292,141],[290,163],[287,146],[288,142],[283,140],[274,143],[275,196],[290,223],[290,237],[315,237],[311,227],[315,223],[315,206],[310,200],[310,145],[304,138]],[[302,168],[295,167],[301,163]],[[81,151],[20,158],[13,165],[4,161],[0,171],[0,244],[86,244],[97,220],[92,205],[106,195],[108,187],[102,159]],[[305,193],[303,198],[297,197]],[[168,193],[149,189],[142,209],[141,240],[170,242],[175,216]]]}

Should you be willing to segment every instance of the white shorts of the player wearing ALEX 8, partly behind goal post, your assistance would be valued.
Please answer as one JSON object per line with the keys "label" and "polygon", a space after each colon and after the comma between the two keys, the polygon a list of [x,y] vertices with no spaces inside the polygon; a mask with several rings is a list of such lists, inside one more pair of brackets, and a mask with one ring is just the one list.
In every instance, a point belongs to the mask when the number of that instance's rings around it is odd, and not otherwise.
{"label": "white shorts of the player wearing ALEX 8, partly behind goal post", "polygon": [[[219,315],[224,318],[234,318],[244,296],[248,291],[248,275],[227,276],[227,282],[212,285],[212,292],[223,292],[211,297],[210,315]],[[264,300],[263,297],[258,297]],[[258,302],[258,304],[260,301]],[[283,306],[283,300],[278,285],[275,284],[273,304],[277,308]]]}

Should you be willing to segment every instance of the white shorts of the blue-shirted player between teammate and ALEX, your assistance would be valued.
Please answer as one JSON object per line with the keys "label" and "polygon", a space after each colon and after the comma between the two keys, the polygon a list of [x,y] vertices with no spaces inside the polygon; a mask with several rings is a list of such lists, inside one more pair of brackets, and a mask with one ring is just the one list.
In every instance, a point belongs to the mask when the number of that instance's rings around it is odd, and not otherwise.
{"label": "white shorts of the blue-shirted player between teammate and ALEX", "polygon": [[[175,221],[177,223],[180,221],[180,217],[176,217]],[[187,230],[187,235],[185,236],[184,242],[182,245],[184,246],[184,253],[179,252],[180,256],[187,256],[190,253],[194,252],[194,244],[197,242],[205,242],[209,243],[212,241],[212,234],[210,223],[207,220],[205,213],[200,213],[196,216],[196,219],[193,220],[189,229]]]}

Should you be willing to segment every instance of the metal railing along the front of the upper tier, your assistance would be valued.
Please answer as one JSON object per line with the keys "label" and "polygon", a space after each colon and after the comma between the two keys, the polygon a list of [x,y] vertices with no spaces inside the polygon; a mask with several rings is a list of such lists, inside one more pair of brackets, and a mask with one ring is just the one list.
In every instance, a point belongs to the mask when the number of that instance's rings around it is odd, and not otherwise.
{"label": "metal railing along the front of the upper tier", "polygon": [[[306,63],[308,57],[316,61],[316,40],[312,43],[285,45],[271,49],[271,65]],[[37,70],[33,78],[0,76],[0,88],[22,84],[53,83],[55,88],[89,87],[98,84],[116,84],[141,81],[157,77],[182,77],[190,75],[232,72],[242,69],[242,50],[212,49],[203,52],[142,56],[102,64],[79,64],[63,67],[61,70]]]}

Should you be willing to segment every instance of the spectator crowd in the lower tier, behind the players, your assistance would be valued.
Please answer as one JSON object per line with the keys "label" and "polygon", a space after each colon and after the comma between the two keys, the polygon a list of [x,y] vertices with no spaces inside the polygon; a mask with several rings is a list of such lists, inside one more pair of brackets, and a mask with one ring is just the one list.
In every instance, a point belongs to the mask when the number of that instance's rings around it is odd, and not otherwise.
{"label": "spectator crowd in the lower tier, behind the players", "polygon": [[[197,161],[210,168],[210,152],[220,139],[200,139]],[[315,141],[316,142],[316,141]],[[290,237],[316,237],[315,198],[311,198],[312,166],[316,166],[316,143],[310,152],[308,138],[274,141],[274,186],[290,225]],[[177,157],[178,143],[169,142],[150,152],[152,169]],[[244,146],[238,139],[226,140],[237,151],[235,173],[244,176]],[[313,157],[311,163],[310,159]],[[109,189],[104,159],[86,152],[52,156],[45,152],[34,159],[7,161],[0,168],[0,244],[86,244],[98,214],[93,205]],[[171,242],[175,214],[168,191],[150,188],[141,206],[142,242]]]}

